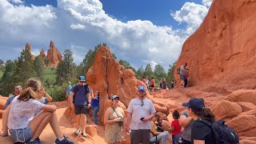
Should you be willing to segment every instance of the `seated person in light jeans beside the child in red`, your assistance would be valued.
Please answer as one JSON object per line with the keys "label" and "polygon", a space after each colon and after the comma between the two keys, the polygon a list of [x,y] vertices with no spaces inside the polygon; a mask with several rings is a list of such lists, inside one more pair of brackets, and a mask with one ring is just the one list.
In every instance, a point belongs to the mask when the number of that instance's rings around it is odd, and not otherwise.
{"label": "seated person in light jeans beside the child in red", "polygon": [[155,114],[154,118],[152,118],[151,121],[151,136],[150,136],[150,142],[162,142],[162,144],[166,144],[167,142],[167,138],[169,135],[168,131],[164,131],[164,132],[158,132],[158,126],[156,126],[155,122],[157,121],[157,119],[159,118],[159,114]]}

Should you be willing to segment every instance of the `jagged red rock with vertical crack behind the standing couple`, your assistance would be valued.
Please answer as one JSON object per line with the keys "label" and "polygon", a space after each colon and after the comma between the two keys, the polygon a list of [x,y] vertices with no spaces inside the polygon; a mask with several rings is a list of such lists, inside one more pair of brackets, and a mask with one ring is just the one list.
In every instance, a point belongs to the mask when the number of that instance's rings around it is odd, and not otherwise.
{"label": "jagged red rock with vertical crack behind the standing couple", "polygon": [[[99,105],[104,107],[98,112],[101,121],[106,108],[109,106],[108,102],[110,102],[109,99],[112,94],[117,94],[120,97],[120,102],[127,107],[130,100],[137,97],[137,87],[145,86],[143,82],[135,78],[133,70],[126,70],[112,57],[110,49],[106,46],[99,47],[94,64],[86,74],[86,82],[94,90],[100,92]],[[169,113],[167,105],[156,103],[148,90],[146,90],[146,98],[150,98],[154,102],[157,111]]]}

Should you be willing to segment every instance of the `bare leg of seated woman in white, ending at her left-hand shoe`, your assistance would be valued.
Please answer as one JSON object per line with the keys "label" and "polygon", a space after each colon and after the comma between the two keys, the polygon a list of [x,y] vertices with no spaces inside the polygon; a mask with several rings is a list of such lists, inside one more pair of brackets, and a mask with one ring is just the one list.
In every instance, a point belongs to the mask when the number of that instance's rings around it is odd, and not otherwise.
{"label": "bare leg of seated woman in white, ending at her left-hand shoe", "polygon": [[33,132],[33,137],[31,139],[38,138],[42,133],[42,130],[45,129],[46,125],[50,122],[53,113],[42,111],[37,116],[35,116],[30,122],[30,128]]}

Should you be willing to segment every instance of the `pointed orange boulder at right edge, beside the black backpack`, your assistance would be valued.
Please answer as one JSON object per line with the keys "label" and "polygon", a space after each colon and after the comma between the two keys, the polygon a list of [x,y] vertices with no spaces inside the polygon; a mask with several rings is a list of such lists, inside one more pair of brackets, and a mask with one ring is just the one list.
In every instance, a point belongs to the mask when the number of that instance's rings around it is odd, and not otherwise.
{"label": "pointed orange boulder at right edge, beside the black backpack", "polygon": [[237,133],[245,132],[256,127],[256,117],[254,115],[239,115],[226,122],[226,125],[232,127]]}

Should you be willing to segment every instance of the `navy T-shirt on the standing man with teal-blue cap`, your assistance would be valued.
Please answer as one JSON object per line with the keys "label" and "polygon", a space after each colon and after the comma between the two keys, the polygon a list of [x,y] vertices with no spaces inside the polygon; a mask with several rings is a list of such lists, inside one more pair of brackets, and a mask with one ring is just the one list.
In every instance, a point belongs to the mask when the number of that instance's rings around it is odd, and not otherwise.
{"label": "navy T-shirt on the standing man with teal-blue cap", "polygon": [[[87,94],[90,92],[90,86],[88,86],[88,92],[86,93],[86,86],[78,86],[78,90],[76,92],[76,94],[74,95],[74,106],[83,106],[83,105],[87,105],[88,104],[88,100],[87,100]],[[72,87],[71,91],[74,93],[74,87]]]}

